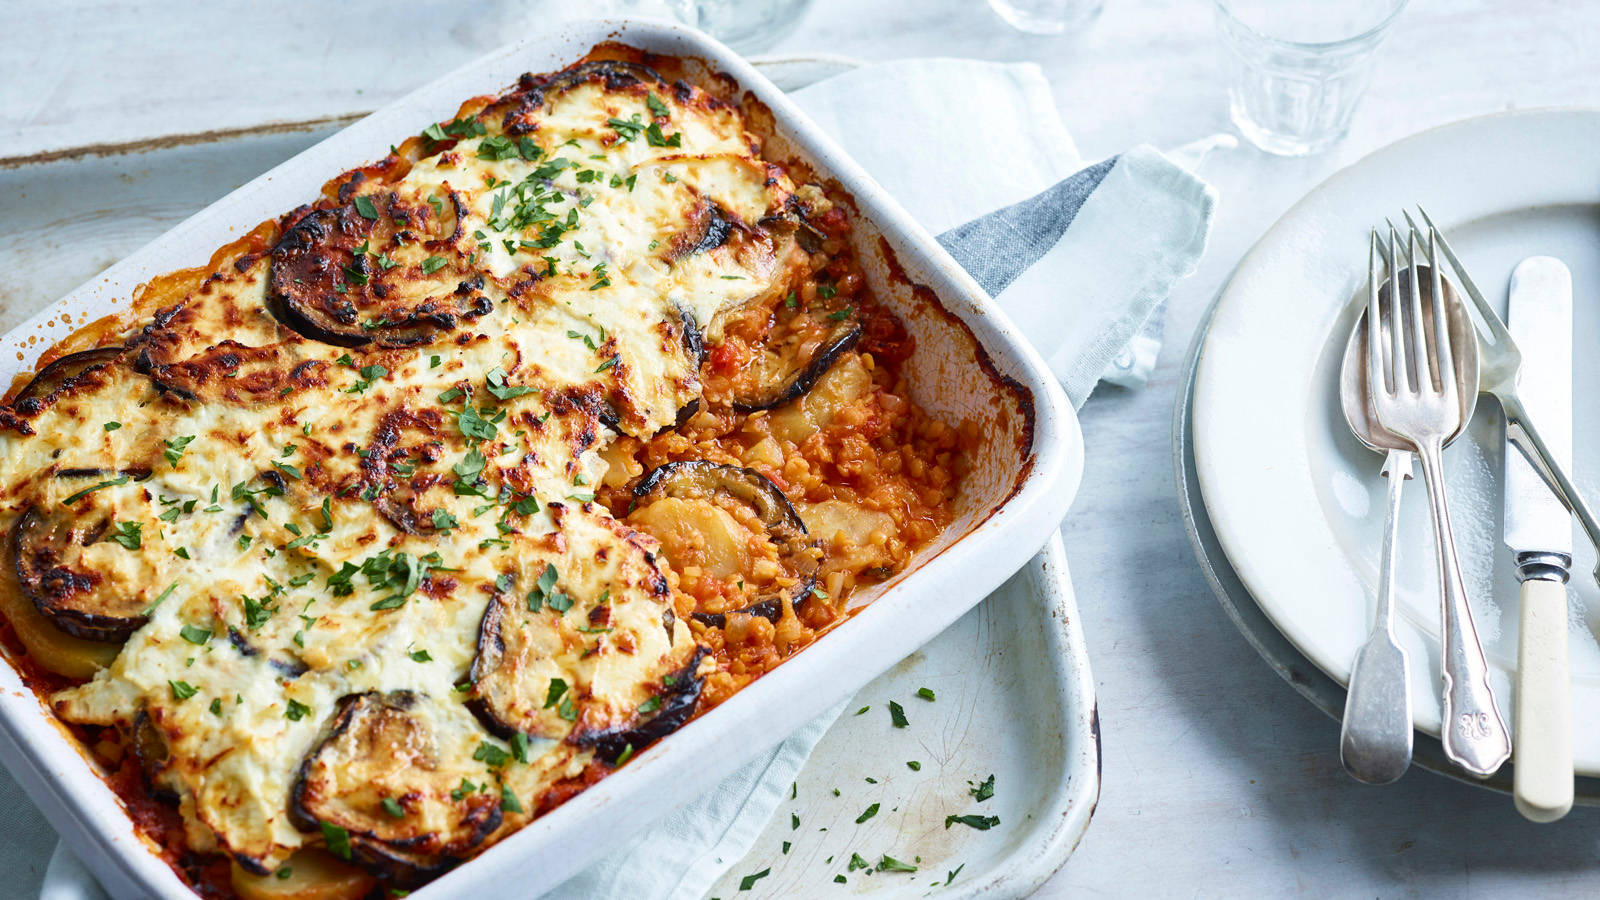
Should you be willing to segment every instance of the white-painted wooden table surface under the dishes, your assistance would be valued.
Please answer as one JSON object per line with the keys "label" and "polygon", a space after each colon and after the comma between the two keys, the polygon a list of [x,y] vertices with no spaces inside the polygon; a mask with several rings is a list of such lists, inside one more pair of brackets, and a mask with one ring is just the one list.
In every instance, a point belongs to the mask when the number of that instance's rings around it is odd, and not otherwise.
{"label": "white-painted wooden table surface under the dishes", "polygon": [[[520,0],[390,6],[392,22],[432,35],[434,53],[416,58],[363,38],[363,3],[242,6],[14,10],[0,34],[0,157],[370,109],[514,34],[486,22],[536,27],[554,14]],[[213,35],[226,40],[206,50]],[[1099,682],[1104,788],[1042,895],[1600,890],[1597,810],[1534,826],[1507,798],[1426,772],[1389,788],[1342,773],[1338,724],[1272,674],[1211,597],[1179,519],[1170,434],[1200,314],[1290,203],[1430,125],[1600,104],[1597,48],[1600,6],[1418,0],[1342,146],[1310,160],[1242,149],[1206,162],[1222,202],[1200,272],[1173,296],[1162,365],[1144,391],[1102,389],[1083,408],[1088,469],[1064,532]],[[818,0],[774,50],[1037,61],[1086,159],[1227,128],[1203,0],[1106,0],[1099,22],[1061,38],[1011,32],[982,0]]]}

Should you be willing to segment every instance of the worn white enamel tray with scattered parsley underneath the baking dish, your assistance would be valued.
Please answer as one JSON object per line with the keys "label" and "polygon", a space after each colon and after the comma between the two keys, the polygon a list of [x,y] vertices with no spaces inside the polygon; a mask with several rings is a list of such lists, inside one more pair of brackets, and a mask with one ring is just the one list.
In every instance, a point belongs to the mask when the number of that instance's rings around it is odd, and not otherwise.
{"label": "worn white enamel tray with scattered parsley underneath the baking dish", "polygon": [[[803,54],[760,56],[752,64],[792,91],[861,62]],[[26,275],[0,287],[0,330],[331,133],[331,127],[264,127],[197,147],[67,154],[48,165],[0,171],[0,271]],[[30,219],[19,210],[10,215],[22,202],[38,203]],[[886,727],[886,701],[906,705],[920,687],[931,687],[939,700],[910,705],[910,732]],[[728,868],[710,895],[736,894],[742,874],[763,868],[771,868],[766,884],[774,890],[805,892],[819,884],[843,890],[830,879],[856,852],[846,847],[859,849],[864,841],[896,858],[922,857],[920,868],[930,874],[853,879],[851,895],[920,897],[926,881],[938,876],[942,886],[957,866],[960,874],[941,897],[1021,897],[1037,889],[1070,857],[1099,796],[1094,682],[1061,536],[960,621],[861,689],[850,713],[859,706],[878,716],[846,714],[834,724],[800,772],[795,801],[774,812],[750,854]],[[906,767],[914,756],[920,772]],[[989,773],[998,785],[995,802],[1006,804],[994,812],[1003,828],[946,831],[944,815],[970,804],[966,781]],[[866,778],[883,788],[867,794]],[[842,798],[832,796],[835,786]],[[880,814],[870,830],[854,826],[854,807],[872,802],[869,796],[899,810]],[[806,823],[798,836],[790,814]],[[829,831],[816,831],[821,826]],[[891,831],[914,838],[894,839]],[[782,854],[784,841],[790,854]],[[827,863],[829,857],[838,865]],[[42,895],[106,897],[59,842]]]}

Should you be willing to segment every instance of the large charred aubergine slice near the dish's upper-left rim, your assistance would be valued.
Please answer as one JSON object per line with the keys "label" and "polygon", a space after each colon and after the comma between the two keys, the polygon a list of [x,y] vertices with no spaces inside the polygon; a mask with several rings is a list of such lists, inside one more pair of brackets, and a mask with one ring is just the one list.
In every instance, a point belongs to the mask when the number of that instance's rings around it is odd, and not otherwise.
{"label": "large charred aubergine slice near the dish's upper-left rim", "polygon": [[467,263],[464,203],[456,192],[432,200],[440,211],[386,191],[306,213],[272,248],[267,309],[342,348],[422,344],[488,314],[483,275]]}

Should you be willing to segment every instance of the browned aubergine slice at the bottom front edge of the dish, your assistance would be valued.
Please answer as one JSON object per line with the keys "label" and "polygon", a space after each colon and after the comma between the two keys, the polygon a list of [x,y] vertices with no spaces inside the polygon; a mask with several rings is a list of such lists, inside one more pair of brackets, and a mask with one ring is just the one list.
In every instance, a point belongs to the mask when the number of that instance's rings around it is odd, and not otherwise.
{"label": "browned aubergine slice at the bottom front edge of the dish", "polygon": [[290,790],[296,828],[342,828],[354,862],[394,887],[451,868],[501,823],[488,769],[438,753],[422,701],[410,690],[346,695]]}

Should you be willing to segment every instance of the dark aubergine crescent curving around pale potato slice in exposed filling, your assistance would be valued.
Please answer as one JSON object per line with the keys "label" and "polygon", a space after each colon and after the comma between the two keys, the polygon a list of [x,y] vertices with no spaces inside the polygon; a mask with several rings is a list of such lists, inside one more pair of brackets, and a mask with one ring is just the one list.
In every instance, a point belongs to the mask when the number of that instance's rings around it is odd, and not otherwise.
{"label": "dark aubergine crescent curving around pale potato slice in exposed filling", "polygon": [[[766,536],[778,546],[778,554],[784,560],[784,565],[800,578],[797,586],[786,591],[790,602],[798,604],[811,593],[811,586],[816,583],[818,544],[806,533],[800,512],[795,511],[794,504],[789,503],[789,498],[784,496],[784,492],[778,490],[778,485],[771,479],[755,469],[725,466],[706,460],[685,460],[651,469],[634,487],[638,506],[645,506],[661,496],[694,498],[718,493],[744,503],[760,517],[766,527]],[[782,613],[782,597],[776,594],[766,596],[738,612],[778,621],[778,617]],[[725,613],[696,612],[691,615],[696,621],[706,625],[718,628],[726,625]]]}

